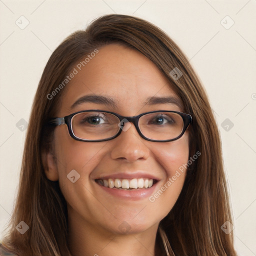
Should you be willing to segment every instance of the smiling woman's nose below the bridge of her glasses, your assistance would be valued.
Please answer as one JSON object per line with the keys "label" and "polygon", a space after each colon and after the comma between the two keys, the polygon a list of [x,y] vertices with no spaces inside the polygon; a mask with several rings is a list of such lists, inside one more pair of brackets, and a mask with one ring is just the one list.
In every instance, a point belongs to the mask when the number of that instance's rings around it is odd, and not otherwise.
{"label": "smiling woman's nose below the bridge of her glasses", "polygon": [[[127,126],[128,129],[126,130]],[[125,122],[121,133],[112,139],[111,158],[125,159],[133,162],[137,159],[147,159],[150,153],[147,147],[148,142],[138,134],[135,126],[131,122]],[[152,143],[152,142],[151,142]]]}

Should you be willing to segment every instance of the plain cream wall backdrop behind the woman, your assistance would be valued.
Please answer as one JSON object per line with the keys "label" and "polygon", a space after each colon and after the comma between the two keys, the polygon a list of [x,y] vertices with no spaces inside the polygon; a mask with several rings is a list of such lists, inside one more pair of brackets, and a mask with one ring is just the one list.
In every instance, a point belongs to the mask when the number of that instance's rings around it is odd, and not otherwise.
{"label": "plain cream wall backdrop behind the woman", "polygon": [[0,237],[46,61],[68,34],[109,13],[152,22],[188,57],[221,134],[235,249],[256,255],[256,0],[0,0]]}

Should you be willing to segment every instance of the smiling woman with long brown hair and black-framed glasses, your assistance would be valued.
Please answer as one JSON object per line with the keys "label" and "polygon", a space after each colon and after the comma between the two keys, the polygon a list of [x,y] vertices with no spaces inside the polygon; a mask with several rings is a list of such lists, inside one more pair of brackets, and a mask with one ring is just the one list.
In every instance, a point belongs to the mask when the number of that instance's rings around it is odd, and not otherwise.
{"label": "smiling woman with long brown hair and black-framed glasses", "polygon": [[217,125],[179,47],[118,14],[68,36],[36,91],[4,248],[236,255],[231,222]]}

